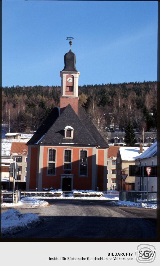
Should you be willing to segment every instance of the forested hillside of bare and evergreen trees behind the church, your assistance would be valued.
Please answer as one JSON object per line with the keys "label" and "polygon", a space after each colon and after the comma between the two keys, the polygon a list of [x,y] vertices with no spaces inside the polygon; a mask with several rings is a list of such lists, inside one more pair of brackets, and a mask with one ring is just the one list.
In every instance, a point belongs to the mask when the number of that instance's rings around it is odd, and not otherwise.
{"label": "forested hillside of bare and evergreen trees behind the church", "polygon": [[[2,88],[2,123],[7,132],[38,129],[53,107],[59,106],[59,86]],[[155,131],[157,82],[79,86],[79,106],[100,130],[123,130],[129,120],[137,131]]]}

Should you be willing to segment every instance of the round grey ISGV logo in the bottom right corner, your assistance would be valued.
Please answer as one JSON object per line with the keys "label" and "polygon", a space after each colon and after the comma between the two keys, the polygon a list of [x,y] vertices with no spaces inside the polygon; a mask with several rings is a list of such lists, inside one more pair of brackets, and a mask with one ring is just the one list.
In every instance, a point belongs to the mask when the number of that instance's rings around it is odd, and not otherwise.
{"label": "round grey ISGV logo in the bottom right corner", "polygon": [[140,244],[135,252],[139,263],[151,263],[156,258],[156,248],[148,244]]}

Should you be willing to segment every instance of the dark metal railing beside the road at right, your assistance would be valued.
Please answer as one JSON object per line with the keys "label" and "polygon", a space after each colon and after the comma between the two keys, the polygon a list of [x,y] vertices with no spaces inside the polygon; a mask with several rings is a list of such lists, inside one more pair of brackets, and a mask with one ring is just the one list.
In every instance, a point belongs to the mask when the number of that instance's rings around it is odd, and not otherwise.
{"label": "dark metal railing beside the road at right", "polygon": [[136,203],[157,203],[156,191],[120,191],[119,200],[133,201]]}

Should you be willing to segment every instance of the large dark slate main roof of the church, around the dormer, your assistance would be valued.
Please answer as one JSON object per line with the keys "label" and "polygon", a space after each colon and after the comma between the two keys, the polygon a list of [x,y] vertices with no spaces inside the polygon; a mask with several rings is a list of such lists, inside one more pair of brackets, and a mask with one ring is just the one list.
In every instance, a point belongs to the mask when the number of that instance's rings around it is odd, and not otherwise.
{"label": "large dark slate main roof of the church, around the dormer", "polygon": [[[64,138],[64,129],[67,125],[74,129],[73,139]],[[60,116],[57,115],[57,108],[55,107],[27,144],[38,143],[109,147],[86,112],[79,107],[77,115],[70,104]]]}

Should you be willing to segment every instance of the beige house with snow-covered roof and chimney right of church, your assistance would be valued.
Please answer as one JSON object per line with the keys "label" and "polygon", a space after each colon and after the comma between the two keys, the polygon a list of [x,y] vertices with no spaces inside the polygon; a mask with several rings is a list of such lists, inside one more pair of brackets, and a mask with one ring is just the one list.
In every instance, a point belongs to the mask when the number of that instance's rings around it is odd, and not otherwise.
{"label": "beige house with snow-covered roof and chimney right of church", "polygon": [[[135,165],[135,157],[142,154],[147,148],[143,147],[119,147],[116,159],[116,190],[135,190],[135,177],[129,176],[129,165]],[[125,180],[122,175],[127,175]]]}

